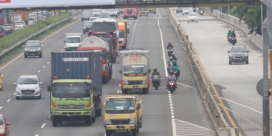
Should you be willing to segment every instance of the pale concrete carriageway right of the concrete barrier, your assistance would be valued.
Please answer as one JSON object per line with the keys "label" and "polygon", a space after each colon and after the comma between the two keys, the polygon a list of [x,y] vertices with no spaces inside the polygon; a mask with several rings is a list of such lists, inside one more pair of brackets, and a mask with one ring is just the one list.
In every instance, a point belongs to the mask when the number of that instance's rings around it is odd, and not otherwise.
{"label": "pale concrete carriageway right of the concrete barrier", "polygon": [[[199,15],[198,23],[187,23],[187,16],[179,13],[175,16],[189,35],[202,66],[232,119],[241,128],[241,134],[262,135],[262,97],[256,91],[257,82],[262,79],[262,51],[239,28],[214,16]],[[227,51],[231,44],[227,41],[228,29],[235,30],[236,45],[245,45],[250,50],[249,64],[229,65]]]}

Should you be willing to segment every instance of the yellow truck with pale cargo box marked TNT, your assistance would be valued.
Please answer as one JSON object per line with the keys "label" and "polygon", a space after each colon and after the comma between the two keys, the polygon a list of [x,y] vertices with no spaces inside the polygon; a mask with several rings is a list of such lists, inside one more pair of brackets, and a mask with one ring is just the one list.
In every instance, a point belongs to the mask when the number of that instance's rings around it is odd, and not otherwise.
{"label": "yellow truck with pale cargo box marked TNT", "polygon": [[121,90],[142,91],[147,94],[150,88],[151,73],[149,51],[142,49],[121,50]]}

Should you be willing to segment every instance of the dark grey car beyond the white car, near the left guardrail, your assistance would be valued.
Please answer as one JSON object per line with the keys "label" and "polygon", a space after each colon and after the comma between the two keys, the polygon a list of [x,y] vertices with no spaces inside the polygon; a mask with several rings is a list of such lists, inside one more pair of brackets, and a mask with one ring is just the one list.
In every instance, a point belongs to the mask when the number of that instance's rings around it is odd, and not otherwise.
{"label": "dark grey car beyond the white car, near the left guardrail", "polygon": [[25,47],[25,58],[28,56],[42,57],[42,45],[40,41],[29,40],[23,47]]}

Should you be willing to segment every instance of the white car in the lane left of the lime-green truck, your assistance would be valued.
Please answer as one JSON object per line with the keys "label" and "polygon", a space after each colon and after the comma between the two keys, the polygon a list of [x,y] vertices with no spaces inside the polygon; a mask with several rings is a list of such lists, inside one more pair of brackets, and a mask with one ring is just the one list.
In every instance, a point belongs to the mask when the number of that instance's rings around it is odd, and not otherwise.
{"label": "white car in the lane left of the lime-green truck", "polygon": [[42,83],[39,81],[37,75],[23,75],[20,76],[16,85],[16,100],[20,97],[38,97],[41,99],[41,88]]}

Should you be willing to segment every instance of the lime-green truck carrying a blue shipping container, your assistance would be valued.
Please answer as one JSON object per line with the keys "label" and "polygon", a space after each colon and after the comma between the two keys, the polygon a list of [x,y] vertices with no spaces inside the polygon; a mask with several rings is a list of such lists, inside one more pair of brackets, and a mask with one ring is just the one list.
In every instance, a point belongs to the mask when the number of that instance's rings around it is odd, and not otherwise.
{"label": "lime-green truck carrying a blue shipping container", "polygon": [[101,51],[51,52],[50,117],[92,125],[102,114]]}

